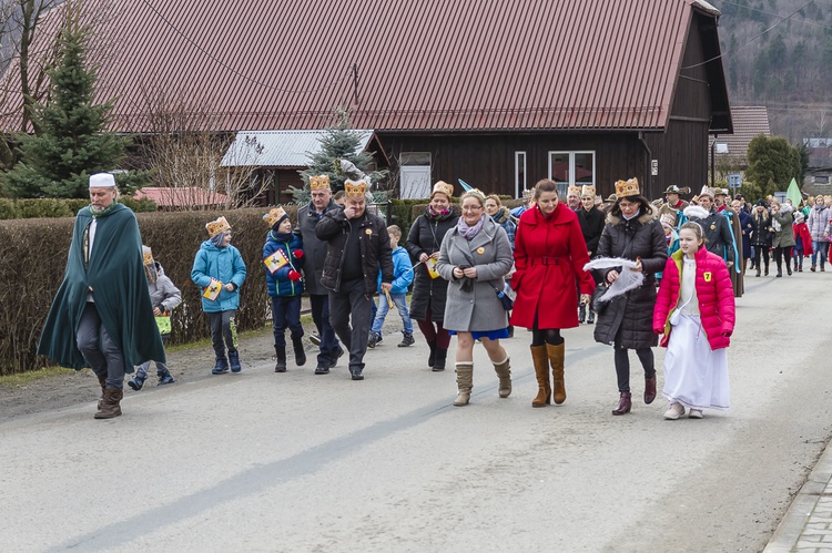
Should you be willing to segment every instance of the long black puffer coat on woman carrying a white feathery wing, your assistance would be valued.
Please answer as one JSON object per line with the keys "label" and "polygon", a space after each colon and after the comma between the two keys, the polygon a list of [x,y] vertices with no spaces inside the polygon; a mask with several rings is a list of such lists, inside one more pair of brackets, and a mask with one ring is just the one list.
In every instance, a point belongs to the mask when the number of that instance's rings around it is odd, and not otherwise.
{"label": "long black puffer coat on woman carrying a white feathery wing", "polygon": [[[632,243],[631,247],[628,245]],[[627,256],[623,255],[627,249]],[[598,244],[599,257],[641,258],[645,273],[643,284],[627,294],[612,299],[607,309],[598,316],[595,339],[601,344],[628,349],[651,348],[659,344],[653,332],[653,308],[656,307],[656,273],[664,268],[668,259],[668,245],[664,231],[655,211],[637,218],[625,221],[612,214],[607,215],[607,226]],[[605,275],[599,275],[606,281]]]}

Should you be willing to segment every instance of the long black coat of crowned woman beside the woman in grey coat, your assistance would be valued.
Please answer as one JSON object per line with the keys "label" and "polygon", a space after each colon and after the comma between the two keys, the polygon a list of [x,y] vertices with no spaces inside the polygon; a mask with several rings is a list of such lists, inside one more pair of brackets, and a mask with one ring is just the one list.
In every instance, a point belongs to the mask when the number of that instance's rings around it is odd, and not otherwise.
{"label": "long black coat of crowned woman beside the woman in grey coat", "polygon": [[[456,213],[442,221],[430,221],[425,215],[416,217],[405,243],[414,263],[418,263],[422,254],[430,255],[438,252],[445,234],[454,228],[458,221],[459,216]],[[448,281],[442,277],[430,278],[424,263],[418,264],[415,273],[410,317],[414,320],[426,320],[427,306],[430,305],[430,318],[436,322],[442,322],[445,316]]]}

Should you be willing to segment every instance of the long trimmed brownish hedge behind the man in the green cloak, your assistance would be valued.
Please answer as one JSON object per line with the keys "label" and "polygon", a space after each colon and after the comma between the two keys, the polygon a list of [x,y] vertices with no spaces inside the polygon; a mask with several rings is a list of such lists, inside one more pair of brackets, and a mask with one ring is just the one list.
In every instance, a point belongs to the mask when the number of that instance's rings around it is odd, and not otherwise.
{"label": "long trimmed brownish hedge behind the man in the green cloak", "polygon": [[[293,222],[297,206],[285,206]],[[210,336],[202,313],[201,290],[191,283],[193,259],[207,239],[205,223],[224,215],[232,226],[232,244],[247,267],[240,289],[237,324],[242,330],[266,324],[268,296],[262,268],[266,237],[266,208],[229,212],[158,212],[138,214],[142,240],[165,274],[182,290],[182,306],[173,314],[171,344]],[[63,279],[74,218],[38,218],[0,222],[0,375],[35,370],[50,365],[35,356],[38,340],[52,298]]]}

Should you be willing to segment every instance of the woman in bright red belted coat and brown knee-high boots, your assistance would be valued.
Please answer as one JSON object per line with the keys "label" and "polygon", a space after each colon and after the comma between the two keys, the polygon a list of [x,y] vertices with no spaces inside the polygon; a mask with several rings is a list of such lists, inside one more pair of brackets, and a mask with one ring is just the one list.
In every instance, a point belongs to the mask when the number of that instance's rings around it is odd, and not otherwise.
{"label": "woman in bright red belted coat and brown knee-high boots", "polygon": [[551,402],[550,365],[555,403],[566,401],[560,329],[578,326],[576,277],[585,304],[589,303],[595,281],[584,270],[589,255],[578,216],[558,202],[555,182],[538,182],[535,202],[536,206],[520,216],[515,236],[516,270],[511,287],[517,298],[511,325],[531,329],[531,358],[538,385],[531,407],[545,407]]}

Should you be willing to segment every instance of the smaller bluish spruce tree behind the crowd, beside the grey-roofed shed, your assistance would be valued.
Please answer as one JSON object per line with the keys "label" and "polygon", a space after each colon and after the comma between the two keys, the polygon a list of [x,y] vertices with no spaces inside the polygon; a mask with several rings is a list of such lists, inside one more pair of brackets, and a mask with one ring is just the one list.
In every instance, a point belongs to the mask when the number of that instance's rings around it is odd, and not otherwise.
{"label": "smaller bluish spruce tree behind the crowd, beside the grey-roofed shed", "polygon": [[373,154],[362,151],[362,133],[349,127],[349,116],[346,112],[338,111],[337,115],[338,122],[327,129],[321,139],[321,150],[310,155],[308,168],[298,171],[303,177],[304,187],[290,186],[292,197],[297,204],[308,203],[310,177],[316,175],[328,175],[333,192],[344,190],[344,181],[348,178],[348,175],[341,171],[338,161],[347,160],[369,177],[373,185],[373,198],[376,202],[386,199],[387,192],[378,190],[377,185],[387,176],[387,171],[369,171]]}

